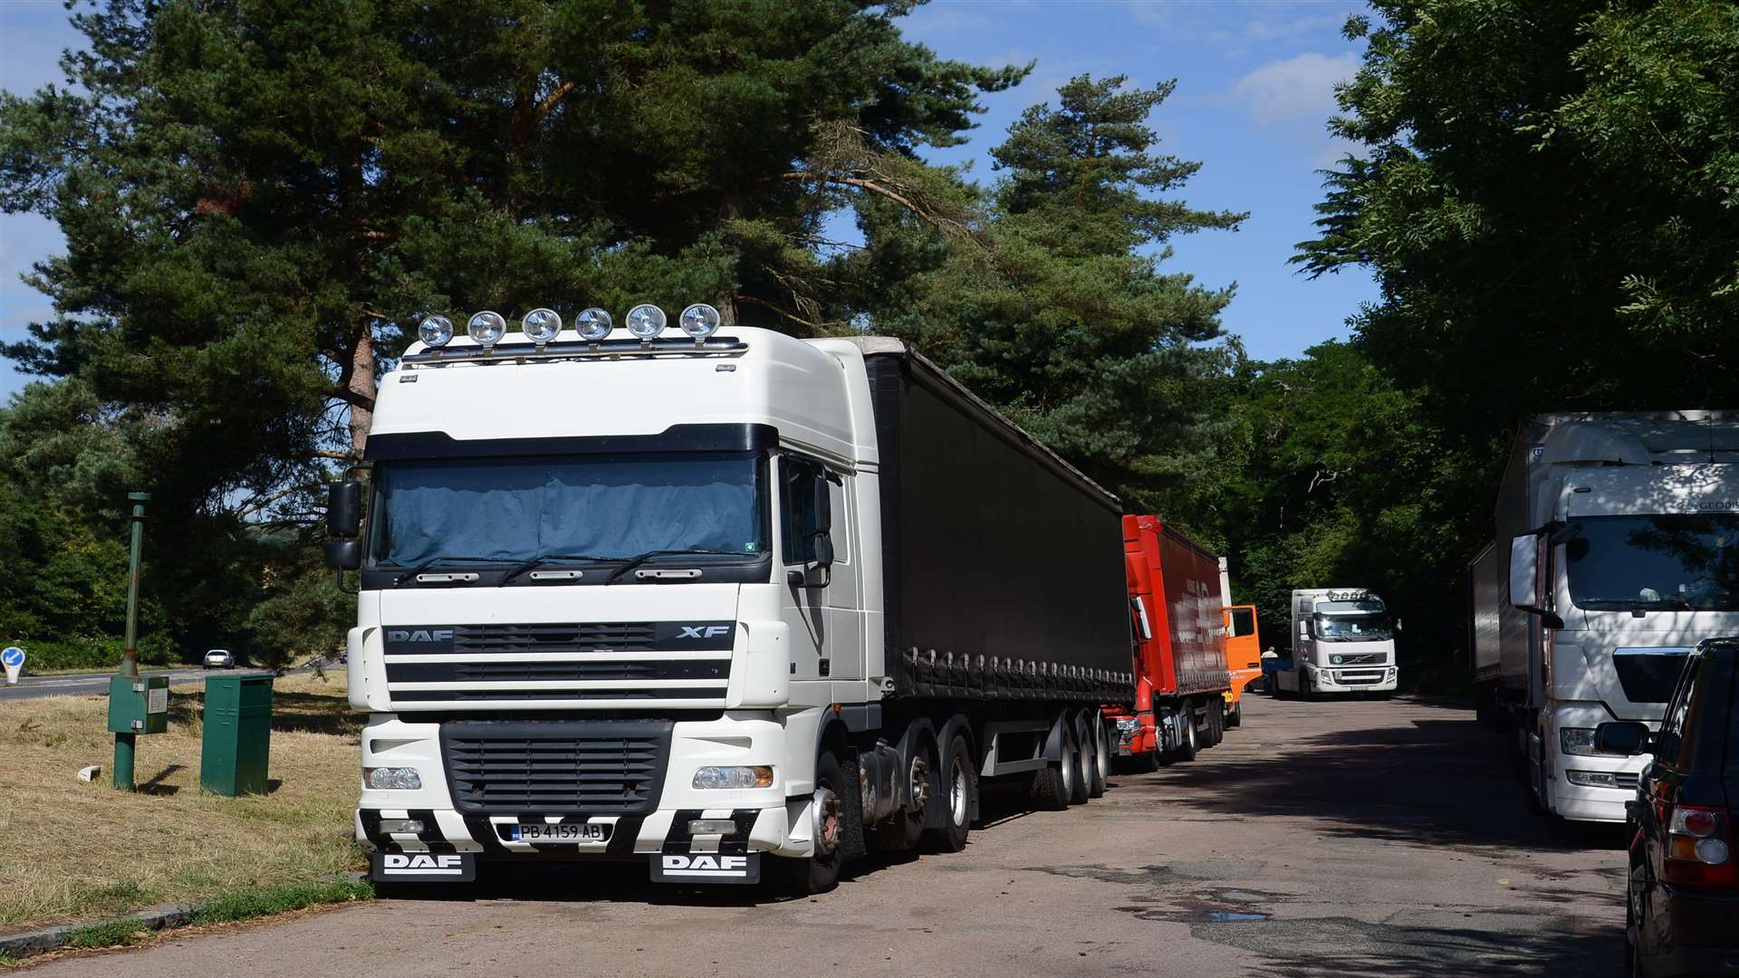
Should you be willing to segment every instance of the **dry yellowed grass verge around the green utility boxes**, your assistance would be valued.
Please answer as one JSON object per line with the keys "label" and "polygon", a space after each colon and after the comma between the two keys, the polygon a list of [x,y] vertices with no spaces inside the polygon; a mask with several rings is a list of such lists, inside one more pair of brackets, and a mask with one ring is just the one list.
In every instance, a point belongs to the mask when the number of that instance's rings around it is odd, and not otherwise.
{"label": "dry yellowed grass verge around the green utility boxes", "polygon": [[[137,794],[110,788],[106,698],[0,701],[0,929],[245,896],[362,868],[351,839],[358,733],[344,672],[278,679],[271,792],[200,792],[198,689],[170,691],[169,733],[141,736]],[[75,773],[101,764],[103,776]]]}

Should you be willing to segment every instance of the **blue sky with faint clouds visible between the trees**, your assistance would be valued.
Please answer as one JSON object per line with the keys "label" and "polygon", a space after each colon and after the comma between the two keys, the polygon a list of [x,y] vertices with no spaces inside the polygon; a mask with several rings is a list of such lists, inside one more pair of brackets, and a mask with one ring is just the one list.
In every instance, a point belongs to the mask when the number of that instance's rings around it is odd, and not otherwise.
{"label": "blue sky with faint clouds visible between the trees", "polygon": [[[1346,151],[1323,122],[1334,113],[1334,82],[1351,77],[1360,52],[1341,24],[1362,9],[1344,0],[932,0],[904,30],[944,57],[1038,63],[1023,85],[984,99],[970,143],[932,155],[970,160],[981,181],[996,176],[986,153],[1009,124],[1029,104],[1054,103],[1073,75],[1127,75],[1130,85],[1177,78],[1149,122],[1158,151],[1202,162],[1181,197],[1202,209],[1250,211],[1250,219],[1238,231],[1176,240],[1165,270],[1210,287],[1236,282],[1226,329],[1252,355],[1276,358],[1346,336],[1346,317],[1376,299],[1363,271],[1308,280],[1287,265],[1292,245],[1313,233],[1311,205],[1322,198],[1315,171]],[[59,82],[59,52],[80,40],[59,0],[0,0],[0,89],[23,94]],[[21,339],[24,324],[49,313],[47,299],[17,277],[63,247],[50,223],[0,214],[0,341]],[[0,364],[0,397],[23,383]]]}

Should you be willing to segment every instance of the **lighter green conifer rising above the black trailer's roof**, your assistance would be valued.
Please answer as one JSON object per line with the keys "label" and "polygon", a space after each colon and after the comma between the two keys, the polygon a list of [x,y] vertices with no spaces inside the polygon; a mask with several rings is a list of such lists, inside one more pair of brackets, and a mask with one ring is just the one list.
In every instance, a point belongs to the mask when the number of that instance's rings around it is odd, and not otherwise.
{"label": "lighter green conifer rising above the black trailer's roof", "polygon": [[1078,77],[1026,110],[991,150],[1002,179],[962,223],[863,212],[868,251],[840,278],[870,282],[870,327],[913,339],[956,378],[1132,503],[1191,468],[1193,385],[1221,367],[1231,287],[1165,270],[1176,235],[1243,214],[1169,197],[1200,164],[1155,153],[1165,82]]}

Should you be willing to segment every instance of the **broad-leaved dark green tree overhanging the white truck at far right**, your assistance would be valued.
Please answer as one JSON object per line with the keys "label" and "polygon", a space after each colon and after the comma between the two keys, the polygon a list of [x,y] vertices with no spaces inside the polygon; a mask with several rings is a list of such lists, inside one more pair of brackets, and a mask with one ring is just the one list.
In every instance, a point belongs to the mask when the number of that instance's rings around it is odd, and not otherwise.
{"label": "broad-leaved dark green tree overhanging the white truck at far right", "polygon": [[1376,270],[1372,362],[1464,444],[1739,393],[1739,9],[1376,0],[1313,273]]}

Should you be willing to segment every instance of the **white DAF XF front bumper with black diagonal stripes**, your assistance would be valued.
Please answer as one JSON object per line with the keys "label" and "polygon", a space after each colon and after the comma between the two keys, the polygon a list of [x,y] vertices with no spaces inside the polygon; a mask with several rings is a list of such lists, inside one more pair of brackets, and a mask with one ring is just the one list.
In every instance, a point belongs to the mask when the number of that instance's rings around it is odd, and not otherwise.
{"label": "white DAF XF front bumper with black diagonal stripes", "polygon": [[[607,724],[605,724],[607,726]],[[807,771],[786,757],[786,729],[767,712],[734,712],[716,720],[682,720],[670,726],[661,759],[663,778],[649,792],[650,804],[614,811],[480,811],[459,804],[442,755],[442,724],[377,713],[362,738],[363,767],[414,767],[421,788],[363,788],[355,813],[356,841],[370,853],[464,853],[483,860],[588,860],[635,858],[664,853],[779,853],[809,856]],[[772,766],[767,788],[694,788],[694,771],[704,766]],[[793,783],[795,781],[795,783]],[[791,790],[793,797],[786,792]],[[381,823],[421,821],[421,832],[384,832]],[[694,820],[729,820],[732,832],[694,835]],[[605,841],[518,842],[520,823],[607,827]]]}

